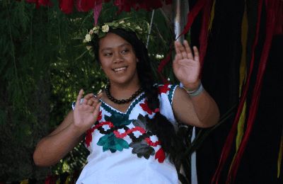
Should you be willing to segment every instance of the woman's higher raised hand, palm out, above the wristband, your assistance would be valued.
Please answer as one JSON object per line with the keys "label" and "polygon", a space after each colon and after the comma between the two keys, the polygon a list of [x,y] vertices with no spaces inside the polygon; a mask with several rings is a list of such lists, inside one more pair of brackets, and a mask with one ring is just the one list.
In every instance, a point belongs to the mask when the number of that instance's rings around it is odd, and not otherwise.
{"label": "woman's higher raised hand, palm out, above the wristband", "polygon": [[173,71],[178,80],[185,88],[195,89],[200,85],[200,55],[197,47],[193,47],[194,53],[190,49],[187,40],[183,42],[175,41],[175,59],[173,61]]}

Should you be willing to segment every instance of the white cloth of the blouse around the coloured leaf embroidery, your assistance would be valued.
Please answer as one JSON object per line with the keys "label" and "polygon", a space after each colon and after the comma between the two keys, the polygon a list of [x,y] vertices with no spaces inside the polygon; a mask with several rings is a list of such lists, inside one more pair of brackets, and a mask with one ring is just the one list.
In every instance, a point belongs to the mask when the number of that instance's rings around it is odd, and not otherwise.
{"label": "white cloth of the blouse around the coloured leaf embroidery", "polygon": [[[161,86],[162,87],[162,86]],[[167,119],[176,124],[175,117],[172,110],[172,100],[173,93],[176,86],[168,86],[166,93],[161,93],[159,95],[160,100],[160,111],[161,114],[166,116]],[[169,99],[169,98],[170,99]],[[147,113],[142,109],[140,104],[144,104],[145,98],[144,93],[141,93],[133,102],[132,105],[129,105],[129,109],[126,113],[121,113],[115,108],[110,107],[106,103],[102,103],[100,111],[102,112],[101,120],[96,122],[93,127],[98,126],[100,123],[107,122],[105,118],[111,117],[112,115],[128,115],[129,120],[132,122],[126,127],[129,130],[137,127],[138,117],[149,115],[149,118],[154,117],[154,113]],[[109,121],[109,119],[108,119]],[[134,123],[136,123],[134,125]],[[111,125],[103,125],[102,129],[105,131],[110,130]],[[145,125],[144,129],[146,129]],[[147,131],[147,129],[146,129]],[[174,131],[174,130],[173,130]],[[117,130],[120,134],[125,133],[125,129]],[[132,132],[135,137],[139,137],[141,132],[135,131]],[[151,146],[154,149],[154,155],[150,155],[148,159],[145,156],[139,158],[137,154],[133,154],[133,148],[129,146],[128,148],[122,149],[122,151],[115,151],[112,153],[109,149],[103,151],[103,146],[99,146],[98,142],[100,138],[105,136],[106,133],[101,133],[98,128],[94,129],[91,133],[91,142],[88,146],[90,154],[88,156],[88,163],[83,168],[79,179],[76,181],[76,184],[96,184],[96,183],[178,183],[178,175],[175,169],[175,166],[165,159],[163,163],[159,163],[158,159],[155,158],[156,152],[161,149],[161,145]],[[117,136],[116,136],[117,137]],[[127,136],[123,137],[127,144],[131,145],[133,139]],[[157,137],[155,135],[150,136],[151,142],[156,142]]]}

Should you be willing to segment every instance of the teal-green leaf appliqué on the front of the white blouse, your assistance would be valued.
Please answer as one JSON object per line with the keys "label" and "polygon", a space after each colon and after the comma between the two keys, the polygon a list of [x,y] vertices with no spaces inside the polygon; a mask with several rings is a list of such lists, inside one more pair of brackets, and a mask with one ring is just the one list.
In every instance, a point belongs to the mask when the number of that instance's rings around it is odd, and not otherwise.
{"label": "teal-green leaf appliqu\u00e9 on the front of the white blouse", "polygon": [[129,144],[124,139],[115,137],[114,133],[105,134],[103,137],[100,137],[97,144],[98,146],[103,146],[103,151],[110,150],[112,153],[115,153],[117,150],[122,151],[129,148]]}

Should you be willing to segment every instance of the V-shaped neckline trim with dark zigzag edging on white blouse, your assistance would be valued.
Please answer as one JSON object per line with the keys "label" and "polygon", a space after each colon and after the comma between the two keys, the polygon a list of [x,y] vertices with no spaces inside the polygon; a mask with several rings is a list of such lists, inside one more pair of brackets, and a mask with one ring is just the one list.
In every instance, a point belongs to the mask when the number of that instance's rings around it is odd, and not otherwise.
{"label": "V-shaped neckline trim with dark zigzag edging on white blouse", "polygon": [[141,99],[143,99],[145,97],[144,92],[139,94],[139,96],[137,96],[137,98],[135,98],[132,103],[129,105],[129,108],[127,108],[126,112],[123,113],[120,110],[117,110],[116,108],[113,108],[111,105],[109,105],[108,103],[105,103],[103,100],[100,99],[101,106],[108,111],[109,113],[120,113],[121,115],[129,115],[132,112],[132,109],[137,105],[137,103],[139,103],[139,101]]}

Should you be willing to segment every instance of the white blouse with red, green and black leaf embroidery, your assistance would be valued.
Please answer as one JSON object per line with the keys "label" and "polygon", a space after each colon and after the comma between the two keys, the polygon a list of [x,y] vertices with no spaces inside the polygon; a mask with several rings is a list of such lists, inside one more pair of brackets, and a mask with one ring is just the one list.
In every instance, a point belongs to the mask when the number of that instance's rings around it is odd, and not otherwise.
{"label": "white blouse with red, green and black leaf embroidery", "polygon": [[[172,110],[176,86],[158,86],[160,112],[176,125]],[[102,102],[97,122],[86,132],[88,163],[76,184],[178,183],[158,137],[147,128],[146,116],[154,117],[141,93],[122,113]],[[174,130],[172,130],[174,131]]]}

